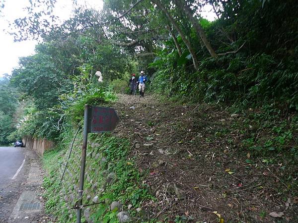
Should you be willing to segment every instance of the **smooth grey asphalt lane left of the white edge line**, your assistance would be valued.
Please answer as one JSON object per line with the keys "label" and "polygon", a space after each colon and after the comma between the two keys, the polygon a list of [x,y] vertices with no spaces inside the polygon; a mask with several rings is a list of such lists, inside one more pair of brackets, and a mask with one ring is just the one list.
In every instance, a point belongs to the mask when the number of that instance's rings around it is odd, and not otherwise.
{"label": "smooth grey asphalt lane left of the white edge line", "polygon": [[11,178],[24,161],[24,152],[24,148],[20,147],[0,147],[0,191],[11,183]]}

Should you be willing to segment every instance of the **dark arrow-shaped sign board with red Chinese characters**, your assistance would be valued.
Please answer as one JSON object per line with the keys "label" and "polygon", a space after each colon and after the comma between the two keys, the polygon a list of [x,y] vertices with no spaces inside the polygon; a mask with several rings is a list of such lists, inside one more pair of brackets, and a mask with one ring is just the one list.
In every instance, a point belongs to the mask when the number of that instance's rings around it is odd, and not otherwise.
{"label": "dark arrow-shaped sign board with red Chinese characters", "polygon": [[88,132],[113,131],[119,123],[119,117],[112,108],[91,107]]}

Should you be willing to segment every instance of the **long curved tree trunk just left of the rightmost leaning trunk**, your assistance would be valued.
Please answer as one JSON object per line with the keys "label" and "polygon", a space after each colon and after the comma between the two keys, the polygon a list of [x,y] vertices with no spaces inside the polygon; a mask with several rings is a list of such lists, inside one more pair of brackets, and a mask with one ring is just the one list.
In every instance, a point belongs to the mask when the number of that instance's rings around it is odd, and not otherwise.
{"label": "long curved tree trunk just left of the rightmost leaning trunk", "polygon": [[167,9],[161,4],[161,2],[159,0],[151,0],[153,3],[155,3],[160,10],[162,10],[164,12],[164,14],[166,15],[166,17],[168,18],[168,20],[170,20],[170,22],[173,24],[173,26],[175,27],[175,29],[178,31],[179,35],[181,36],[183,42],[185,43],[189,53],[192,56],[193,59],[193,64],[196,70],[199,69],[199,63],[198,63],[198,59],[196,56],[196,52],[194,51],[194,49],[192,48],[190,42],[186,39],[186,37],[184,36],[182,30],[180,29],[180,27],[178,26],[177,22],[175,21],[175,19],[169,14],[169,12],[167,11]]}

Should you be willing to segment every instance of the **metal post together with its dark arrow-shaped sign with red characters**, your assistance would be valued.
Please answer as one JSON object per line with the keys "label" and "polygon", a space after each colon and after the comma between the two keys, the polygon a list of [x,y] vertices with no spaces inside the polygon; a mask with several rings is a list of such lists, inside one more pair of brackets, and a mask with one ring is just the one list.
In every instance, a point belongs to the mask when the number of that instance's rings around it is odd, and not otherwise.
{"label": "metal post together with its dark arrow-shaped sign with red characters", "polygon": [[119,117],[112,108],[91,107],[85,105],[84,110],[84,128],[83,128],[83,146],[81,155],[81,166],[79,175],[78,200],[74,205],[76,211],[76,223],[81,223],[81,206],[84,189],[84,174],[86,163],[86,150],[88,133],[100,133],[113,131],[119,123]]}

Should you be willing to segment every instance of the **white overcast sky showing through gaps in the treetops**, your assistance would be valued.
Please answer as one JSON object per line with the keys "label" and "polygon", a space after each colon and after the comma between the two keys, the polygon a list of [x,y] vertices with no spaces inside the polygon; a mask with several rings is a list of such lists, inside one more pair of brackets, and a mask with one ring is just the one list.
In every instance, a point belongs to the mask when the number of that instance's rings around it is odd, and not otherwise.
{"label": "white overcast sky showing through gaps in the treetops", "polygon": [[[78,0],[78,2],[88,7],[102,7],[102,0]],[[4,5],[0,14],[0,77],[5,73],[11,74],[13,67],[18,65],[18,57],[34,54],[37,43],[36,41],[13,42],[13,37],[3,31],[8,28],[7,21],[26,15],[26,10],[23,8],[29,6],[29,0],[4,0]],[[72,9],[72,0],[57,0],[54,14],[66,20],[70,17]],[[208,20],[214,20],[215,14],[212,12],[212,7],[205,7],[202,16]]]}

